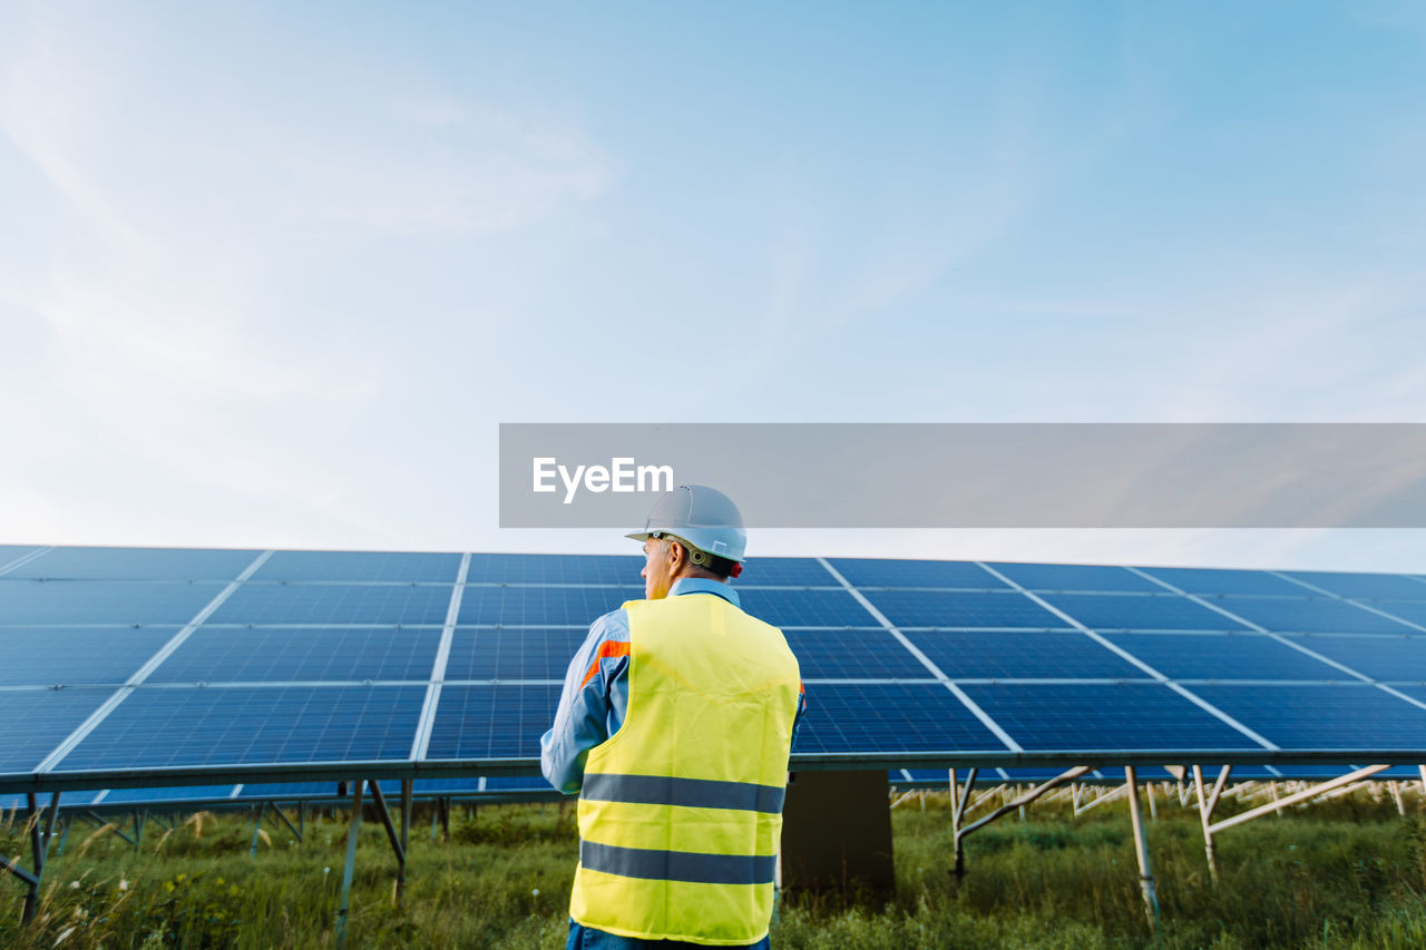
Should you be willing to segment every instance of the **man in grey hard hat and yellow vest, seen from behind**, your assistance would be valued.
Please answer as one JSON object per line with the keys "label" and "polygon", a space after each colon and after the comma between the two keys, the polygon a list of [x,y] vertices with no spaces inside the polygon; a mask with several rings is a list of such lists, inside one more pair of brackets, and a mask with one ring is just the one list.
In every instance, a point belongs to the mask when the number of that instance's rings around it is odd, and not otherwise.
{"label": "man in grey hard hat and yellow vest, seen from behind", "polygon": [[797,659],[727,585],[747,542],[727,495],[679,485],[627,536],[646,599],[590,625],[540,739],[580,793],[568,950],[767,947]]}

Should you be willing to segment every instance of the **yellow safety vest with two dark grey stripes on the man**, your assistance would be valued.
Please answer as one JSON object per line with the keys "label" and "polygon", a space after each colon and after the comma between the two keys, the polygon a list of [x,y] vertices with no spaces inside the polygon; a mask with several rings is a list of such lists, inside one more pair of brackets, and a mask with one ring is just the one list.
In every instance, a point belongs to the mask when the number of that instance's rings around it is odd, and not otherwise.
{"label": "yellow safety vest with two dark grey stripes on the man", "polygon": [[623,606],[629,709],[585,763],[569,916],[623,937],[756,943],[773,913],[797,659],[716,593]]}

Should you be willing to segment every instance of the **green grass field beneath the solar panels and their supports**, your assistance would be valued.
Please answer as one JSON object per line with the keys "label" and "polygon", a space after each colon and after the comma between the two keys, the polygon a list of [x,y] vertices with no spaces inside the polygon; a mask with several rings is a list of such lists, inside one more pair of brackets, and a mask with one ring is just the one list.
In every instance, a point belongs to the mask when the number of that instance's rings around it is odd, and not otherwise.
{"label": "green grass field beneath the solar panels and their supports", "polygon": [[[897,896],[787,897],[776,947],[1423,947],[1426,819],[1390,796],[1349,799],[1262,819],[1218,839],[1221,880],[1204,862],[1196,812],[1159,805],[1148,822],[1162,907],[1147,923],[1127,806],[1075,819],[1047,803],[968,839],[955,883],[945,796],[893,812]],[[1235,803],[1225,802],[1222,814]],[[428,813],[429,814],[429,813]],[[458,809],[449,842],[412,833],[405,900],[379,824],[362,826],[349,947],[562,947],[576,856],[573,812],[556,806]],[[241,814],[147,826],[135,850],[76,824],[44,873],[36,921],[20,926],[23,887],[0,883],[3,947],[332,946],[345,816],[307,822],[305,842],[264,823],[257,856]],[[426,822],[429,817],[426,817]],[[29,863],[23,816],[0,819],[6,856]],[[6,876],[9,877],[9,876]]]}

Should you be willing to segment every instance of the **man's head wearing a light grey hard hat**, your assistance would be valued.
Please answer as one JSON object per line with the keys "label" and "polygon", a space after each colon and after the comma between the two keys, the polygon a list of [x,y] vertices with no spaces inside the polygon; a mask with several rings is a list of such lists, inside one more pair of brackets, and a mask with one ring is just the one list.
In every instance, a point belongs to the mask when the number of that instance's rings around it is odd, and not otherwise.
{"label": "man's head wearing a light grey hard hat", "polygon": [[742,572],[747,532],[733,499],[706,485],[679,485],[665,492],[643,531],[629,538],[643,542],[645,596],[669,595],[679,578],[727,581]]}

